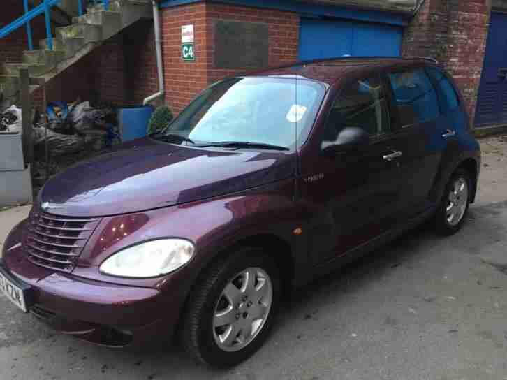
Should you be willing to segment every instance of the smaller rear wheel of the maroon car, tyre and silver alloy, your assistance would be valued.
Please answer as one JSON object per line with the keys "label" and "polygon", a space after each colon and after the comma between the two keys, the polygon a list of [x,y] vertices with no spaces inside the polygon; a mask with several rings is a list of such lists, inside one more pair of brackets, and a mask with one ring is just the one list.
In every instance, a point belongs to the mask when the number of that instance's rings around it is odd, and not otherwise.
{"label": "smaller rear wheel of the maroon car, tyre and silver alloy", "polygon": [[460,231],[469,210],[471,189],[469,173],[464,169],[457,169],[450,177],[435,215],[437,233],[449,236]]}

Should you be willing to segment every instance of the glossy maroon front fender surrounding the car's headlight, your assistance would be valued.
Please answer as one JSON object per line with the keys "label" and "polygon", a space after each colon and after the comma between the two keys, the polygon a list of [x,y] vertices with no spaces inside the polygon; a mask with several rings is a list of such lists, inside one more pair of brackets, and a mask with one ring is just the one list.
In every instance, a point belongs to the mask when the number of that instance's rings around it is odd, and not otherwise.
{"label": "glossy maroon front fender surrounding the car's headlight", "polygon": [[[274,235],[295,254],[292,232],[299,225],[301,214],[292,195],[293,180],[285,180],[210,200],[106,217],[84,248],[73,275],[158,289],[172,284],[172,290],[177,282],[177,288],[186,293],[217,255],[246,238]],[[196,244],[196,254],[183,268],[156,279],[124,279],[99,272],[101,263],[117,251],[159,238],[191,240]]]}

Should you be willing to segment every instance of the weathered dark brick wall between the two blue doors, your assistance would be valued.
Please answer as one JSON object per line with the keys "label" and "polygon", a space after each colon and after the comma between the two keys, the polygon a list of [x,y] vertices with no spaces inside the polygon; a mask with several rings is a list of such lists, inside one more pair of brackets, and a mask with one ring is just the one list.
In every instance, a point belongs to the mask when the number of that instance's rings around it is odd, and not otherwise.
{"label": "weathered dark brick wall between the two blue doors", "polygon": [[489,0],[426,0],[404,32],[403,54],[438,59],[455,78],[472,120],[490,10]]}

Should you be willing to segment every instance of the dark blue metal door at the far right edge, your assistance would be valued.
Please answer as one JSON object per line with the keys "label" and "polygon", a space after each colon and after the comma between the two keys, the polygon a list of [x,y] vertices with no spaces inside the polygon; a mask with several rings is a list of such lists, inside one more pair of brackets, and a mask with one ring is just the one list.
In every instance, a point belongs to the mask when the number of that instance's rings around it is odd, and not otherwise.
{"label": "dark blue metal door at the far right edge", "polygon": [[507,123],[507,15],[492,13],[477,99],[476,126],[505,123]]}

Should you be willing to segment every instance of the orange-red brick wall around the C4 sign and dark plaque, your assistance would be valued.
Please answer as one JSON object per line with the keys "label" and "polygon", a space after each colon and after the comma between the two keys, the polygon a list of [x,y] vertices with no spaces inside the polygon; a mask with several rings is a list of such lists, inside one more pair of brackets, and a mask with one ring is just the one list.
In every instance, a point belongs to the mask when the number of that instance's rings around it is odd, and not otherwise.
{"label": "orange-red brick wall around the C4 sign and dark plaque", "polygon": [[[202,89],[244,69],[223,70],[214,66],[214,22],[232,20],[261,22],[269,27],[269,64],[297,60],[299,16],[277,10],[195,3],[162,11],[163,64],[166,103],[178,113]],[[181,52],[181,27],[193,24],[196,61],[185,62]]]}

